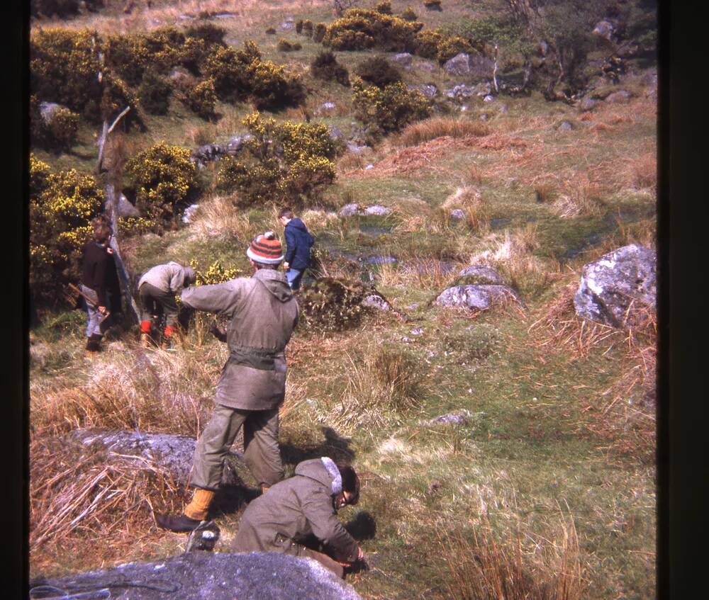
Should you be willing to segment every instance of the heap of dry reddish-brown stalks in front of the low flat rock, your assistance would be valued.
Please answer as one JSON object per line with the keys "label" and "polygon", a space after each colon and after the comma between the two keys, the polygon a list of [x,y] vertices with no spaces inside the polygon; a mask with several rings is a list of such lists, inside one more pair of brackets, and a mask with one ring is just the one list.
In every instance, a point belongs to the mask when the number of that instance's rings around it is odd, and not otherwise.
{"label": "heap of dry reddish-brown stalks in front of the low flat rock", "polygon": [[[38,567],[52,548],[100,543],[98,564],[125,557],[150,538],[152,511],[179,511],[182,494],[172,475],[150,460],[121,461],[51,436],[30,439],[30,555]],[[131,531],[132,530],[132,531]],[[153,532],[155,530],[153,529]],[[88,566],[88,565],[87,565]]]}

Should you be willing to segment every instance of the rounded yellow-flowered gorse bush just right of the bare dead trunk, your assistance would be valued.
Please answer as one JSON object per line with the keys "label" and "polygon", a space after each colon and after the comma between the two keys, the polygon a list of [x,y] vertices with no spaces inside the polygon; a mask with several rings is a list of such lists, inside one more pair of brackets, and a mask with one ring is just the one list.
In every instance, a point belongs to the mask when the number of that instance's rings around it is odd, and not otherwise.
{"label": "rounded yellow-flowered gorse bush just right of the bare dead trunk", "polygon": [[140,213],[156,222],[174,222],[197,191],[189,149],[160,142],[125,163]]}

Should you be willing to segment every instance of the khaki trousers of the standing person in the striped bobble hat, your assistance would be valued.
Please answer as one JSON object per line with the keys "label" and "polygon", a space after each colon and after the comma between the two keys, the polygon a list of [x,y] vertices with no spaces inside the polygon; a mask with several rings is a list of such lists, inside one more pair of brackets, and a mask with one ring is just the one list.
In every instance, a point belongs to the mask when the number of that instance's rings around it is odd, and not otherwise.
{"label": "khaki trousers of the standing person in the striped bobble hat", "polygon": [[218,489],[224,465],[236,434],[244,428],[244,462],[259,485],[274,485],[283,479],[278,446],[278,407],[244,410],[216,404],[194,451],[189,484]]}

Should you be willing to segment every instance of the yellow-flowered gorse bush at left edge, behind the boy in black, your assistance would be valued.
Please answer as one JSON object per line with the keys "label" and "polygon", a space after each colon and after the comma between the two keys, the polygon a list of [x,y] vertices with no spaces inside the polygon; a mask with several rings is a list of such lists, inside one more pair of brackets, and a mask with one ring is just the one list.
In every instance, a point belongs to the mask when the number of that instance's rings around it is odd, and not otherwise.
{"label": "yellow-flowered gorse bush at left edge, behind the boy in black", "polygon": [[35,301],[54,302],[68,281],[78,281],[91,219],[104,192],[74,169],[52,173],[30,154],[30,289]]}

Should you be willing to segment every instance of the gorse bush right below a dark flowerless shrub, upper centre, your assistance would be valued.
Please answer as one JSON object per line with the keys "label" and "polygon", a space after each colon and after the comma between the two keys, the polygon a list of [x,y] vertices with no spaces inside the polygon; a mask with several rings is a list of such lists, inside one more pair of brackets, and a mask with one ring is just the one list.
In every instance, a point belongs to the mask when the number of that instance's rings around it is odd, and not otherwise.
{"label": "gorse bush right below a dark flowerless shrub, upper centre", "polygon": [[352,92],[355,116],[362,123],[376,125],[382,132],[398,131],[431,113],[430,101],[420,91],[406,89],[401,82],[379,89],[365,86],[362,79],[355,77]]}

